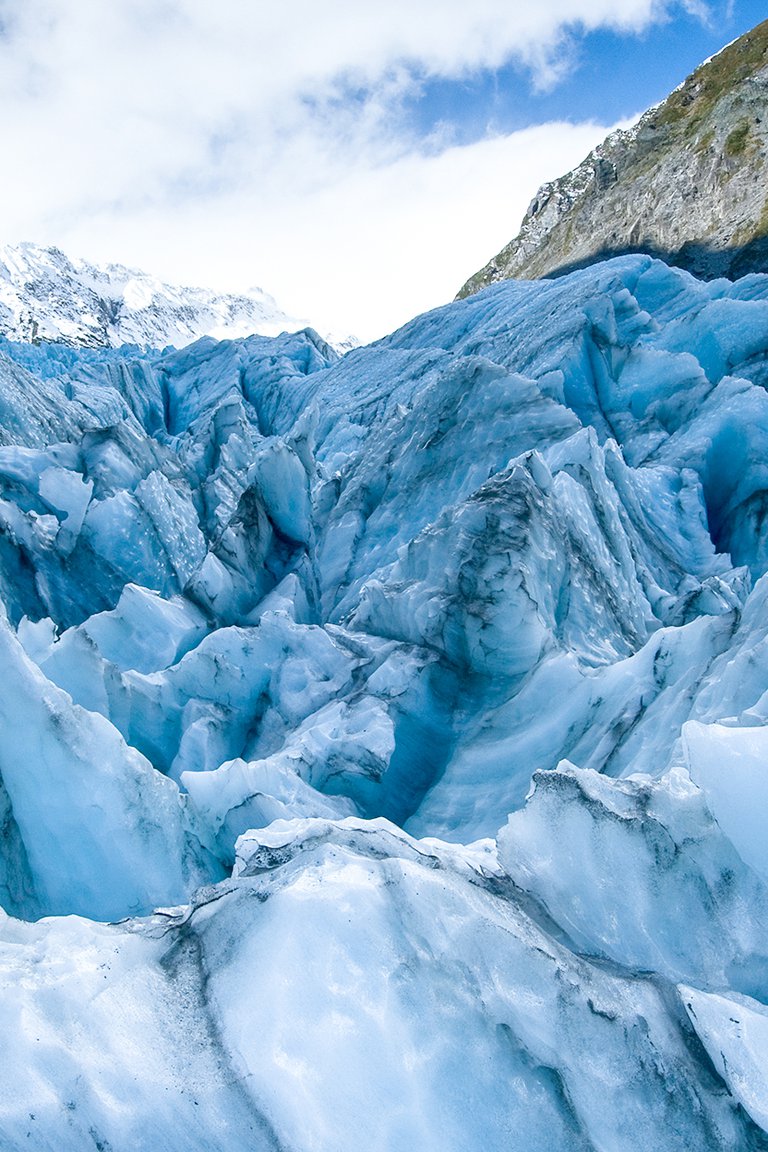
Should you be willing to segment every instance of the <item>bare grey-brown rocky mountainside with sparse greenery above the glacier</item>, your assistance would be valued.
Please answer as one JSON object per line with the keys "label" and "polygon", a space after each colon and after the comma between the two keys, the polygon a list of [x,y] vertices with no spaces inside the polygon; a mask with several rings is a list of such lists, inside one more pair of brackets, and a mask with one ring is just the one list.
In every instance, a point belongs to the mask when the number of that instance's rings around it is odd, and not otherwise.
{"label": "bare grey-brown rocky mountainside with sparse greenery above the glacier", "polygon": [[517,237],[459,291],[624,252],[702,279],[768,271],[768,21],[702,63],[629,130],[543,184]]}

